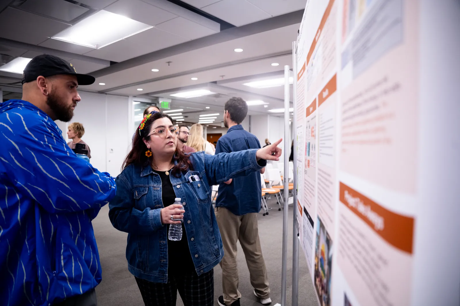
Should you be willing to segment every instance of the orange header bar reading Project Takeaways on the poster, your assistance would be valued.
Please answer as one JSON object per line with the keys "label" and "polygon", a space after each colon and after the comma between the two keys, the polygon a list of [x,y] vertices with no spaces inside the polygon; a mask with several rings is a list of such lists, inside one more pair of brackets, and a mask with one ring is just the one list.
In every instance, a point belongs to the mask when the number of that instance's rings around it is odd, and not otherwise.
{"label": "orange header bar reading Project Takeaways on the poster", "polygon": [[342,182],[340,202],[350,208],[386,242],[412,254],[414,218],[389,211]]}

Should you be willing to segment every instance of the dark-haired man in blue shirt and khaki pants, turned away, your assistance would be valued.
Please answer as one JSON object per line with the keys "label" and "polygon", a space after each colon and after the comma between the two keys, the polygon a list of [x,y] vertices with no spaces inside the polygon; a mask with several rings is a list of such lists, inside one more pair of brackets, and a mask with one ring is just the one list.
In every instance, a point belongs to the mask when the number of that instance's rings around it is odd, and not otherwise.
{"label": "dark-haired man in blue shirt and khaki pants, turned away", "polygon": [[[225,103],[224,123],[229,128],[216,145],[216,154],[259,149],[259,139],[245,131],[240,124],[247,115],[247,103],[241,98],[231,98]],[[265,168],[260,170],[264,173]],[[224,295],[219,296],[220,306],[240,306],[238,291],[238,269],[236,267],[236,243],[238,239],[246,256],[254,295],[262,304],[270,304],[270,288],[260,247],[257,213],[261,202],[260,173],[253,172],[245,177],[233,178],[219,185],[216,200],[216,218],[224,245],[222,287]]]}

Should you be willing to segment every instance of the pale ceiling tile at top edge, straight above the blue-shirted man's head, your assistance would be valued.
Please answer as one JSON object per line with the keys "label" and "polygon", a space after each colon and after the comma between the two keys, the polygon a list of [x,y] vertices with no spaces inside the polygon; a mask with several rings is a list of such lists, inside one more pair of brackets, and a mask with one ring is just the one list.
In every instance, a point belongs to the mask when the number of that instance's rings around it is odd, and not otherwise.
{"label": "pale ceiling tile at top edge, straight above the blue-shirted man's head", "polygon": [[237,27],[271,17],[246,0],[222,0],[201,9]]}

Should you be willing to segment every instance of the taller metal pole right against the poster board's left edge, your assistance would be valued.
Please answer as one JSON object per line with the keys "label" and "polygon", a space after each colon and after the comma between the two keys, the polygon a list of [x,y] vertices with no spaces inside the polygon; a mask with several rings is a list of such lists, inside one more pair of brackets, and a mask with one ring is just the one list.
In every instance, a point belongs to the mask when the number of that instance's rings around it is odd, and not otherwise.
{"label": "taller metal pole right against the poster board's left edge", "polygon": [[297,114],[299,110],[296,109],[296,99],[297,99],[297,53],[296,53],[296,42],[293,41],[292,43],[292,72],[294,77],[293,82],[293,104],[294,104],[294,117],[292,131],[293,131],[293,140],[295,142],[295,149],[294,149],[294,199],[293,199],[293,223],[292,223],[292,306],[298,306],[299,304],[299,238],[298,234],[299,231],[297,229],[297,131],[295,128],[295,124],[297,122]]}

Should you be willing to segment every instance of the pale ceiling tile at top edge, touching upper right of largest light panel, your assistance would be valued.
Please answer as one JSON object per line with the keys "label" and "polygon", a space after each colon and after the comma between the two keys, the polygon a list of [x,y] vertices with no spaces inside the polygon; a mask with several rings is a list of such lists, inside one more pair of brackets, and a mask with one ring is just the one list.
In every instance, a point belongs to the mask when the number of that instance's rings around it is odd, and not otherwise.
{"label": "pale ceiling tile at top edge, touching upper right of largest light panel", "polygon": [[151,26],[177,17],[168,11],[140,0],[119,0],[106,7],[104,10],[129,17]]}

